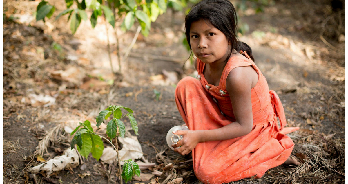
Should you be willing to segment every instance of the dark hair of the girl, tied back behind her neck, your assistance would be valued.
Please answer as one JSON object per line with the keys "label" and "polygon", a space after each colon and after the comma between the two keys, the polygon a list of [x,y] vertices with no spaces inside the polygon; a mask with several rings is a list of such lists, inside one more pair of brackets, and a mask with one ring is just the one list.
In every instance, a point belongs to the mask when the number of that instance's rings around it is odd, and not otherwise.
{"label": "dark hair of the girl, tied back behind her neck", "polygon": [[[185,34],[190,45],[190,27],[192,22],[204,19],[218,30],[223,32],[227,40],[231,42],[232,48],[237,52],[246,51],[254,61],[251,48],[237,38],[237,14],[236,9],[228,0],[203,0],[193,5],[190,12],[185,17]],[[232,50],[231,49],[231,53]],[[231,54],[230,53],[230,54]],[[230,55],[229,55],[230,56]]]}

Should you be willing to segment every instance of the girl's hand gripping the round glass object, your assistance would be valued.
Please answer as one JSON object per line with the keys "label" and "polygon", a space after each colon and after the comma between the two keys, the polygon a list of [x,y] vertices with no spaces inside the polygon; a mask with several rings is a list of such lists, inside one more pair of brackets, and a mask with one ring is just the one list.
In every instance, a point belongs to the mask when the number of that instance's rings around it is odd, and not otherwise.
{"label": "girl's hand gripping the round glass object", "polygon": [[173,134],[183,135],[183,139],[179,143],[172,144],[174,151],[178,152],[181,155],[189,154],[199,143],[199,134],[197,133],[197,131],[178,130],[174,131]]}

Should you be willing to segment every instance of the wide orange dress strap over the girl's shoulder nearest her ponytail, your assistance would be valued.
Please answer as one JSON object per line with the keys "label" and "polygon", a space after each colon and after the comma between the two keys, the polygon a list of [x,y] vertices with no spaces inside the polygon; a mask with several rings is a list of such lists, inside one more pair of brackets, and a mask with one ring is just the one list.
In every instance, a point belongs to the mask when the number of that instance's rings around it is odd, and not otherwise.
{"label": "wide orange dress strap over the girl's shoulder nearest her ponytail", "polygon": [[[244,51],[240,51],[239,53],[241,53],[244,56],[234,56],[232,58],[230,58],[227,61],[227,64],[222,72],[222,76],[221,76],[221,80],[220,80],[220,86],[222,89],[226,89],[226,80],[227,80],[227,76],[228,74],[231,72],[232,69],[237,68],[239,66],[253,66],[254,67],[254,61],[248,56],[248,54]],[[256,72],[259,74],[259,71],[257,69],[255,69]]]}

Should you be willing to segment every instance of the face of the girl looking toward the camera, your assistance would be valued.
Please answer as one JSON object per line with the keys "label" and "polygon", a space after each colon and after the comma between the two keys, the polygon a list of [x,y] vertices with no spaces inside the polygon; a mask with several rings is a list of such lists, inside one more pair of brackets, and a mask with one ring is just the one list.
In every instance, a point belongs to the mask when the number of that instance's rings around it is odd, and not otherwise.
{"label": "face of the girl looking toward the camera", "polygon": [[204,19],[191,24],[190,45],[195,56],[206,64],[224,62],[231,49],[225,34]]}

